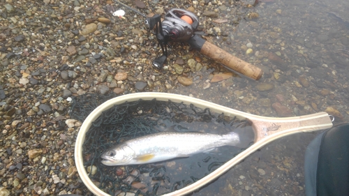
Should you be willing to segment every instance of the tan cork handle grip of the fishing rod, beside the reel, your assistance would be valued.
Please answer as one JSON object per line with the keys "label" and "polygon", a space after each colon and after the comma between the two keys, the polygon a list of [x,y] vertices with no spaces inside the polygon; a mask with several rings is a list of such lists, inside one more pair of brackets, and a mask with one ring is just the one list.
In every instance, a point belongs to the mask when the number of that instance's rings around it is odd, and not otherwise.
{"label": "tan cork handle grip of the fishing rod, beside the reel", "polygon": [[253,80],[260,80],[260,77],[262,77],[263,72],[260,68],[253,66],[250,63],[229,54],[228,52],[225,52],[225,50],[212,43],[209,43],[198,35],[192,36],[188,40],[188,43],[201,54],[204,54],[205,56],[214,59],[214,61],[222,63],[224,66],[227,66],[238,73],[242,73]]}

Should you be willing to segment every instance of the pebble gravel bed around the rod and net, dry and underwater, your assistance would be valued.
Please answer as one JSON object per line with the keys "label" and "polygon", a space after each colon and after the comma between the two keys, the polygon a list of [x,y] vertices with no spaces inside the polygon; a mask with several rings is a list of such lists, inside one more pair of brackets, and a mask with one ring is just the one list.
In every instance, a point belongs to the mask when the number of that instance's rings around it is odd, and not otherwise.
{"label": "pebble gravel bed around the rod and net, dry and underwater", "polygon": [[[68,115],[84,93],[161,91],[261,116],[326,111],[348,122],[349,3],[123,2],[146,15],[194,10],[207,41],[264,75],[226,74],[186,43],[173,43],[164,69],[154,70],[156,37],[112,1],[0,0],[0,195],[91,195],[73,159],[82,122]],[[120,8],[125,17],[114,17]],[[268,144],[194,195],[305,195],[304,150],[314,136]]]}

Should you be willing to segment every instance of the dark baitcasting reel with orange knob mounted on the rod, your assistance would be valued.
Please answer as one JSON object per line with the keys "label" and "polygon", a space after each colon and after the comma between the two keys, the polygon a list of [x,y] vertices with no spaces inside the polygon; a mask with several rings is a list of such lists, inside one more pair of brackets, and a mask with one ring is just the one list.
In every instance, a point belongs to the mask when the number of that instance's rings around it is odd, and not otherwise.
{"label": "dark baitcasting reel with orange knob mounted on the rod", "polygon": [[158,45],[161,46],[163,55],[156,57],[153,61],[154,68],[161,69],[165,63],[169,42],[186,42],[192,36],[194,31],[198,29],[199,20],[193,13],[173,8],[165,14],[165,19],[161,21],[160,15],[148,17],[145,24],[149,29],[154,30]]}

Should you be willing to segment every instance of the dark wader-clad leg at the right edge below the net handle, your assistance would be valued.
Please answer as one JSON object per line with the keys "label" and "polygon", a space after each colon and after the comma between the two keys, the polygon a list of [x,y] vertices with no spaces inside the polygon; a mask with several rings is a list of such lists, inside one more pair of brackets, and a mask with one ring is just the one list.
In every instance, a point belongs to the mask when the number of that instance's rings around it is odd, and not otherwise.
{"label": "dark wader-clad leg at the right edge below the net handle", "polygon": [[349,195],[349,123],[315,137],[304,169],[307,196]]}

